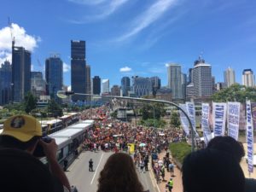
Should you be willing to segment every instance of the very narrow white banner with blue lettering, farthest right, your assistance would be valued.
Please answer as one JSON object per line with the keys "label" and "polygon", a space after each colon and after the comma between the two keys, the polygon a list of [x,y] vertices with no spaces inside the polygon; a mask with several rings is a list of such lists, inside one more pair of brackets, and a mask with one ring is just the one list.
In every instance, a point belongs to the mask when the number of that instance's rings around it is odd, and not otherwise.
{"label": "very narrow white banner with blue lettering, farthest right", "polygon": [[248,172],[253,172],[253,118],[251,102],[247,101],[247,160]]}

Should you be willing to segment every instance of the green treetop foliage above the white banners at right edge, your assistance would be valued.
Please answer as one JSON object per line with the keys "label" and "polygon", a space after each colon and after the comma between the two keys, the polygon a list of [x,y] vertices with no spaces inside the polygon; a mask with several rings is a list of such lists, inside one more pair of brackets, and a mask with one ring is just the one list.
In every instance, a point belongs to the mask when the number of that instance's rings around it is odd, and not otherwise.
{"label": "green treetop foliage above the white banners at right edge", "polygon": [[246,99],[256,102],[256,88],[232,84],[212,95],[213,102],[246,102]]}

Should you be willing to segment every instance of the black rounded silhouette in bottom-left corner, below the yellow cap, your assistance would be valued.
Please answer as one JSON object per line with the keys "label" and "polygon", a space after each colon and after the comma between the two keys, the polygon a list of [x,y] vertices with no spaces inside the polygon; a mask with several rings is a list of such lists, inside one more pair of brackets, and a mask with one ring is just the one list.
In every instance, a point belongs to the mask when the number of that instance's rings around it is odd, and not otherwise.
{"label": "black rounded silhouette in bottom-left corner, below the yellow cap", "polygon": [[3,192],[53,192],[54,179],[47,166],[25,151],[0,150],[0,183]]}

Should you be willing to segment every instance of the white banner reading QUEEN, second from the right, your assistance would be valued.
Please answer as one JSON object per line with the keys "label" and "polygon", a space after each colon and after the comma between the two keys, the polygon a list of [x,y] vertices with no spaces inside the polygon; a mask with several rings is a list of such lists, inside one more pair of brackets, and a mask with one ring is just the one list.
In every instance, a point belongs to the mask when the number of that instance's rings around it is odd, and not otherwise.
{"label": "white banner reading QUEEN, second from the right", "polygon": [[228,102],[228,134],[238,141],[240,102]]}

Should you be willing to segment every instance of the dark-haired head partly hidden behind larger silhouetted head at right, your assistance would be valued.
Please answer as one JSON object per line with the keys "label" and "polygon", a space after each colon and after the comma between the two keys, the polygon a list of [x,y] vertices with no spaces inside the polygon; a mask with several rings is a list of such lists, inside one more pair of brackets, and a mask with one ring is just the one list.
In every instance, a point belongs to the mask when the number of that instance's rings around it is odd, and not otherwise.
{"label": "dark-haired head partly hidden behind larger silhouetted head at right", "polygon": [[233,155],[237,162],[241,161],[241,158],[245,155],[244,148],[241,143],[236,139],[229,136],[218,136],[212,138],[208,143],[207,148],[215,148],[220,151],[224,151]]}

